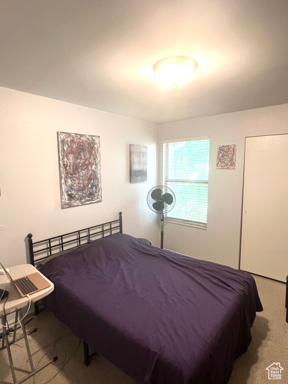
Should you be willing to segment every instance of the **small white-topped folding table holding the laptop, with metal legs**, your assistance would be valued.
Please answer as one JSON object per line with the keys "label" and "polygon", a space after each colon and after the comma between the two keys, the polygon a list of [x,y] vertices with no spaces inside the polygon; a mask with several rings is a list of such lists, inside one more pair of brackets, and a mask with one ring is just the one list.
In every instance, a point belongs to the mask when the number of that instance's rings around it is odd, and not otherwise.
{"label": "small white-topped folding table holding the laptop, with metal legs", "polygon": [[[30,273],[34,273],[34,272],[38,272],[38,271],[31,264],[22,264],[22,265],[12,266],[9,268],[9,273],[13,279],[23,277],[23,276],[26,276]],[[38,273],[40,273],[40,272],[38,272]],[[43,298],[43,297],[47,296],[49,293],[51,293],[52,290],[54,289],[53,283],[50,280],[48,280],[45,276],[43,276],[43,278],[50,283],[50,286],[48,288],[45,288],[45,289],[39,290],[38,292],[30,294],[29,296],[30,296],[31,302],[35,302],[35,301],[40,300],[41,298]],[[10,283],[10,281],[8,281],[7,283],[6,283],[6,281],[7,281],[7,276],[5,274],[0,274],[0,288],[5,289],[9,292],[7,300],[4,298],[0,301],[0,318],[1,318],[2,329],[3,329],[2,346],[0,349],[3,349],[4,347],[7,348],[10,368],[11,368],[12,377],[13,377],[13,383],[14,384],[20,384],[21,382],[25,381],[27,378],[31,377],[33,374],[35,374],[36,372],[38,372],[39,370],[43,369],[45,366],[50,364],[52,361],[55,361],[56,357],[53,357],[48,363],[42,365],[40,368],[38,368],[36,370],[34,369],[32,356],[31,356],[31,352],[30,352],[30,347],[29,347],[29,342],[28,342],[28,338],[27,338],[27,334],[26,334],[26,330],[25,330],[25,325],[24,325],[24,321],[22,319],[22,317],[23,317],[22,308],[29,303],[29,299],[27,297],[20,297],[19,293],[13,287],[13,285]],[[5,305],[4,305],[4,303],[5,303]],[[5,311],[4,311],[4,307],[5,307]],[[12,344],[13,342],[16,341],[16,339],[15,339],[16,326],[14,326],[14,329],[13,329],[12,341],[8,340],[8,329],[6,326],[4,326],[7,324],[7,318],[6,317],[11,312],[15,312],[15,321],[14,322],[17,322],[18,316],[19,316],[19,322],[22,326],[22,331],[23,331],[22,337],[25,340],[27,354],[28,354],[30,367],[31,367],[31,373],[29,373],[27,376],[25,376],[20,381],[16,380],[12,355],[11,355],[11,351],[10,351],[10,344]]]}

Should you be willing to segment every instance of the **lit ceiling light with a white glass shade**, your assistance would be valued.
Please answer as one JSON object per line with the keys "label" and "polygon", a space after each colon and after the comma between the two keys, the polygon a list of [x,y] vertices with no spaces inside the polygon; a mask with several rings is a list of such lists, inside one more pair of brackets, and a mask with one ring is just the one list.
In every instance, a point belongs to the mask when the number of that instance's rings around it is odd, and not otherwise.
{"label": "lit ceiling light with a white glass shade", "polygon": [[153,69],[158,75],[159,82],[164,86],[168,86],[186,82],[197,66],[197,61],[194,59],[177,56],[157,61]]}

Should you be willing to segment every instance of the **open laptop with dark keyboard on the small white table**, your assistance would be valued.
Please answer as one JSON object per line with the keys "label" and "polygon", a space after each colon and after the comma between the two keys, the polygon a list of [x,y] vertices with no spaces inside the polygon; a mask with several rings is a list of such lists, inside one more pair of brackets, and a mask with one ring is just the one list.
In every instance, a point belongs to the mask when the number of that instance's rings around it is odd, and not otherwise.
{"label": "open laptop with dark keyboard on the small white table", "polygon": [[27,294],[32,294],[51,286],[51,284],[46,279],[44,279],[44,277],[41,276],[39,272],[13,279],[3,264],[0,263],[0,265],[8,277],[10,283],[17,290],[21,297],[25,297]]}

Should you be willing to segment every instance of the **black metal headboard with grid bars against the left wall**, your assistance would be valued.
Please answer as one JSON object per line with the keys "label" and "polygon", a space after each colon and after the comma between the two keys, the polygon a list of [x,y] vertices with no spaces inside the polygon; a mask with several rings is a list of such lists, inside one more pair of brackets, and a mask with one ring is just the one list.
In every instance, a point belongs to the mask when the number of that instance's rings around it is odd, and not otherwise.
{"label": "black metal headboard with grid bars against the left wall", "polygon": [[107,221],[103,224],[93,225],[84,229],[78,229],[73,232],[60,234],[59,236],[53,236],[40,241],[33,242],[32,233],[28,233],[30,264],[35,265],[37,262],[58,252],[83,245],[89,240],[95,240],[118,232],[122,233],[122,212],[119,212],[119,218],[116,220]]}

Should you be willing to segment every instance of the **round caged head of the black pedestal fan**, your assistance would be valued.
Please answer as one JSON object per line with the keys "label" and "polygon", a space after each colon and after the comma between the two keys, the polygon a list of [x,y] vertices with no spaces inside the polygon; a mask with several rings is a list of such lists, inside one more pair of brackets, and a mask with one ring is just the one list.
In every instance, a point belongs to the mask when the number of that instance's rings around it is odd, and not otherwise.
{"label": "round caged head of the black pedestal fan", "polygon": [[175,205],[174,192],[165,185],[157,185],[149,190],[147,204],[156,213],[165,214]]}

